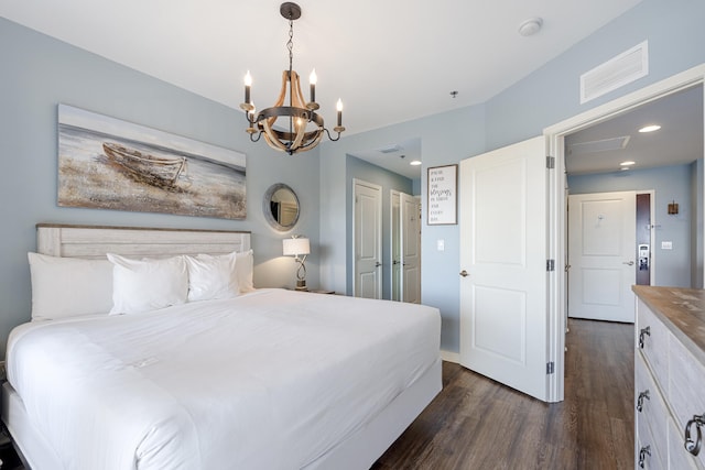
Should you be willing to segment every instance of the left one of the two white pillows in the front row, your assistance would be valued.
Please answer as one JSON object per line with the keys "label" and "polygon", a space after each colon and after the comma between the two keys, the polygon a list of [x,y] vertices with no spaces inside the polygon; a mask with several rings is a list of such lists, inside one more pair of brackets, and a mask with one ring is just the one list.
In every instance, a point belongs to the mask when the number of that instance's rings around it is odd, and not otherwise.
{"label": "left one of the two white pillows in the front row", "polygon": [[113,264],[110,314],[137,314],[186,302],[184,256],[131,260],[108,253],[108,260]]}

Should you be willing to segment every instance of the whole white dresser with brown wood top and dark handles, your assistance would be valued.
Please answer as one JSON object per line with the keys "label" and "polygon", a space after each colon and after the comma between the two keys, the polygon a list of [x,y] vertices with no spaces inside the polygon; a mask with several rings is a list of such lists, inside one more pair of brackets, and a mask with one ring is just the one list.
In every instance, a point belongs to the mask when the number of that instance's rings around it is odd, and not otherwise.
{"label": "whole white dresser with brown wood top and dark handles", "polygon": [[705,291],[633,291],[636,468],[703,470]]}

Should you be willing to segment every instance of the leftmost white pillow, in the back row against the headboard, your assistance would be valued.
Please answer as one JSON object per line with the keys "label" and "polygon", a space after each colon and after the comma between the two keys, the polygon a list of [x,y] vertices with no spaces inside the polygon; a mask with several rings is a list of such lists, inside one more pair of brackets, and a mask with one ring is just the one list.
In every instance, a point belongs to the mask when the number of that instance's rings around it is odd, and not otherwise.
{"label": "leftmost white pillow, in the back row against the headboard", "polygon": [[107,314],[112,307],[112,264],[108,260],[28,253],[32,319]]}

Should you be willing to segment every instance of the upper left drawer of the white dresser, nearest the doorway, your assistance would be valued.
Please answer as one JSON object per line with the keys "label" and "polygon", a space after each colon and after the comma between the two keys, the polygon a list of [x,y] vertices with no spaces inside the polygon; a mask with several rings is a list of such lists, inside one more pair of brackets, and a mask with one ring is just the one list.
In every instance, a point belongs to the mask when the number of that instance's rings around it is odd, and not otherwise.
{"label": "upper left drawer of the white dresser, nearest the doorway", "polygon": [[[669,383],[669,339],[670,331],[649,307],[641,300],[637,306],[637,349],[641,350],[657,381],[665,389]],[[643,346],[640,345],[643,340]]]}

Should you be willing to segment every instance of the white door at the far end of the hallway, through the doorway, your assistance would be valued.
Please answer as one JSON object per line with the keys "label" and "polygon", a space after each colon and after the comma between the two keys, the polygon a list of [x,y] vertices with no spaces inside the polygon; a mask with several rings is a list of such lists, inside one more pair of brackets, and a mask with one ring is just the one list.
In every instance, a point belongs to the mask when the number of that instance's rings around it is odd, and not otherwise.
{"label": "white door at the far end of the hallway, through the doorway", "polygon": [[568,316],[634,321],[637,193],[568,196]]}

